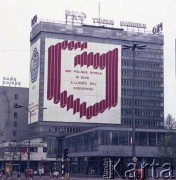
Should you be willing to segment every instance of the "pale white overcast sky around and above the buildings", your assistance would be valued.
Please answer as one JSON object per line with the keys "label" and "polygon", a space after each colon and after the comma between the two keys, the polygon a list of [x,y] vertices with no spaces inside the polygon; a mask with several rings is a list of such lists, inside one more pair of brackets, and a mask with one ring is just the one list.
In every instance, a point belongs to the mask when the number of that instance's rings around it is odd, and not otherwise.
{"label": "pale white overcast sky around and above the buildings", "polygon": [[84,12],[85,24],[99,16],[120,21],[145,23],[147,31],[163,22],[164,107],[176,118],[175,39],[176,0],[0,0],[0,85],[3,77],[16,77],[29,87],[31,19],[65,21],[65,10]]}

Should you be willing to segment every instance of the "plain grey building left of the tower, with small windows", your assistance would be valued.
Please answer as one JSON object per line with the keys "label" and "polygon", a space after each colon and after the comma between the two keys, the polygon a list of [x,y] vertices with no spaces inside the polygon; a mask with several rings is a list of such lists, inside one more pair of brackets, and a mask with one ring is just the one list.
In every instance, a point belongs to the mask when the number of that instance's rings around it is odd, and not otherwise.
{"label": "plain grey building left of the tower, with small windows", "polygon": [[[0,87],[0,143],[27,138],[28,98],[28,88]],[[21,104],[24,108],[16,109],[14,104]]]}

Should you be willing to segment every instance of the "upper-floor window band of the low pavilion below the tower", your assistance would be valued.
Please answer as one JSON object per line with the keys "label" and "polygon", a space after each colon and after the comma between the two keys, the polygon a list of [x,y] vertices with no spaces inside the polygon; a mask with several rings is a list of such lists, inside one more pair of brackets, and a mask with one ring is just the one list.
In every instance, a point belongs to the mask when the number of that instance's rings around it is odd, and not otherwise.
{"label": "upper-floor window band of the low pavilion below the tower", "polygon": [[[164,140],[164,133],[136,132],[135,144],[139,146],[158,146]],[[69,152],[88,152],[98,150],[98,145],[131,145],[131,131],[99,130],[66,139]]]}

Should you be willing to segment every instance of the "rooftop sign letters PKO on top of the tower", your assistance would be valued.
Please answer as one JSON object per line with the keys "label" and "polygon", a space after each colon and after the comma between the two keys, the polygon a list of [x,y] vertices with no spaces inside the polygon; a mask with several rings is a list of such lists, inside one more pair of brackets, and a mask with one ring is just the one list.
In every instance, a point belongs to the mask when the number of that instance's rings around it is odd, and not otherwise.
{"label": "rooftop sign letters PKO on top of the tower", "polygon": [[76,20],[76,21],[81,21],[82,24],[84,19],[86,19],[86,14],[84,12],[65,10],[66,23],[69,18],[72,21],[72,23],[74,23],[74,21]]}

